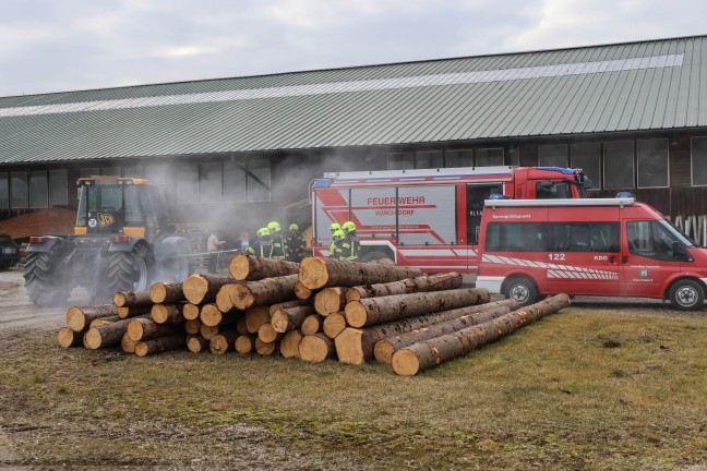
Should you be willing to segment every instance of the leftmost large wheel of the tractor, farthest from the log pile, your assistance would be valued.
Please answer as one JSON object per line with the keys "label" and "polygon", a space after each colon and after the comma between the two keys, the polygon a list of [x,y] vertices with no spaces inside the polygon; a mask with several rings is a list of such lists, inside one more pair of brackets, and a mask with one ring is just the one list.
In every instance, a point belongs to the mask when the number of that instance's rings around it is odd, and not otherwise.
{"label": "leftmost large wheel of the tractor, farthest from the log pile", "polygon": [[61,259],[59,246],[49,252],[27,254],[23,276],[27,295],[34,304],[40,307],[63,306],[69,300],[71,287],[59,274]]}

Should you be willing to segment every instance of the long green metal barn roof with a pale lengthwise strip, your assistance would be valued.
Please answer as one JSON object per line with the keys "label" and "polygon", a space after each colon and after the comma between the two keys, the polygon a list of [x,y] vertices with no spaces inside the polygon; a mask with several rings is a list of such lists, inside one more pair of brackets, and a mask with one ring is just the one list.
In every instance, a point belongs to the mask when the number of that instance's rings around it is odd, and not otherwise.
{"label": "long green metal barn roof with a pale lengthwise strip", "polygon": [[707,125],[707,36],[0,98],[0,164]]}

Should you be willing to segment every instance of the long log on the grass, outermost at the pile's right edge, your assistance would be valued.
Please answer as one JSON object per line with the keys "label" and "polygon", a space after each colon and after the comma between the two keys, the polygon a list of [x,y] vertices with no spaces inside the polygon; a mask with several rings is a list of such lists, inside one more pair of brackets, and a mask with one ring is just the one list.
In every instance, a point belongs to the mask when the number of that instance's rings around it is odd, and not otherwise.
{"label": "long log on the grass, outermost at the pile's right edge", "polygon": [[414,343],[393,354],[393,371],[412,376],[447,360],[460,357],[570,305],[570,297],[558,294],[476,326]]}

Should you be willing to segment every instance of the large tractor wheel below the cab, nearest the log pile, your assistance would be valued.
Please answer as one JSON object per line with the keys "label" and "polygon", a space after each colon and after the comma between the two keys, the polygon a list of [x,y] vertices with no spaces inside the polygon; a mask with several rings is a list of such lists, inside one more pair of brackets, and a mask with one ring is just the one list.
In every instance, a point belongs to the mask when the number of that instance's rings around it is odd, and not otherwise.
{"label": "large tractor wheel below the cab, nearest the log pile", "polygon": [[134,247],[132,252],[110,252],[108,254],[106,291],[145,291],[149,288],[152,264],[147,250]]}

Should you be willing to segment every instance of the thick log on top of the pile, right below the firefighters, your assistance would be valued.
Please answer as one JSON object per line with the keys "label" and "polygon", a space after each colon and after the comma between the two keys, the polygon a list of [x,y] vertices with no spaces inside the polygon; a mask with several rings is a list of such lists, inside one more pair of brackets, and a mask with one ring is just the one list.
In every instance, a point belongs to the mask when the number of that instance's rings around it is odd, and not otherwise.
{"label": "thick log on top of the pile, right below the firefighters", "polygon": [[311,290],[398,281],[421,275],[418,268],[322,257],[305,257],[299,269],[299,280]]}

